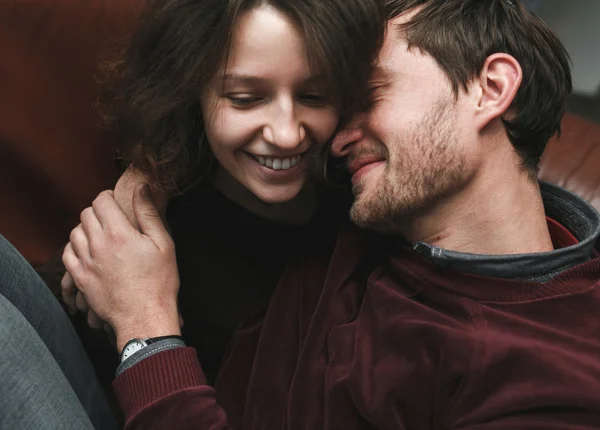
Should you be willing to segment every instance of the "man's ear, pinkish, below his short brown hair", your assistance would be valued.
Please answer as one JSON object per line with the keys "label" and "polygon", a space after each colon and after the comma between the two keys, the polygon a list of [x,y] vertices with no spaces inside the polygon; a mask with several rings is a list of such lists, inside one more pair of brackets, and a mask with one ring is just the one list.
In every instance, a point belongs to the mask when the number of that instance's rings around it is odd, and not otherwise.
{"label": "man's ear, pinkish, below his short brown hair", "polygon": [[519,62],[511,55],[490,55],[483,64],[479,78],[473,84],[476,92],[476,123],[478,130],[499,117],[510,119],[510,105],[523,80]]}

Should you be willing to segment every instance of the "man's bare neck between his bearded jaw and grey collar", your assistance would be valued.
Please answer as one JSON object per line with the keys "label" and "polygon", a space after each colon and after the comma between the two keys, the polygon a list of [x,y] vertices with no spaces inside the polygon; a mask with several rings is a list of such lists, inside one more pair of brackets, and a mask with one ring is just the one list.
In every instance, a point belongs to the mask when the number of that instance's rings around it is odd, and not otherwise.
{"label": "man's bare neck between his bearded jaw and grey collar", "polygon": [[466,188],[410,222],[403,236],[411,242],[472,254],[554,249],[539,185],[520,167],[507,171],[485,166]]}

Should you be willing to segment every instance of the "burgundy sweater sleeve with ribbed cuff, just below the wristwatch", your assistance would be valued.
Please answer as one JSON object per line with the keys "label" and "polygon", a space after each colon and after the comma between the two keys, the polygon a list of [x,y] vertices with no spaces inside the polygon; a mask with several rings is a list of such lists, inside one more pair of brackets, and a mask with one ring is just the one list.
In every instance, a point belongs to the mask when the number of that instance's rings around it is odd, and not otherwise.
{"label": "burgundy sweater sleeve with ribbed cuff, just below the wristwatch", "polygon": [[125,429],[229,429],[193,348],[154,354],[113,382]]}

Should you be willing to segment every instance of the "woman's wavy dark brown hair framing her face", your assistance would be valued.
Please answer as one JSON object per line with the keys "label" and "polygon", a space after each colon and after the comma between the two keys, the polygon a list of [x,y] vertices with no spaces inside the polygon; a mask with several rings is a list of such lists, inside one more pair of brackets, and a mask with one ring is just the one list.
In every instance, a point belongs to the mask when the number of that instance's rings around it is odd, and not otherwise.
{"label": "woman's wavy dark brown hair framing her face", "polygon": [[120,58],[103,68],[101,112],[124,165],[171,193],[211,171],[199,95],[226,64],[240,15],[263,5],[302,29],[341,115],[367,99],[385,25],[380,0],[149,0]]}

